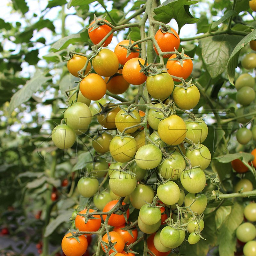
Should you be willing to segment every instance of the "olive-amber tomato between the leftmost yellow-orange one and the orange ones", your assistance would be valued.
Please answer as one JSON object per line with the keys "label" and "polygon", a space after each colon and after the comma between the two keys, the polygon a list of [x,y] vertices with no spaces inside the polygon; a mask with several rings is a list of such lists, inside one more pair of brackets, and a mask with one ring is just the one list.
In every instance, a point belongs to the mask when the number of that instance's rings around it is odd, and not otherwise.
{"label": "olive-amber tomato between the leftmost yellow-orange one and the orange ones", "polygon": [[100,76],[113,76],[119,67],[117,56],[109,49],[101,49],[92,59],[92,67]]}

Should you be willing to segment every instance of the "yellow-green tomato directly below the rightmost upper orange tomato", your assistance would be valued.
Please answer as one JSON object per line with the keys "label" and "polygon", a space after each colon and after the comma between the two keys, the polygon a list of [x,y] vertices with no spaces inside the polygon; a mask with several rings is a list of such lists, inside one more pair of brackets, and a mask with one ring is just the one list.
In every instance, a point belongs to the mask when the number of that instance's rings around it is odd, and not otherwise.
{"label": "yellow-green tomato directly below the rightmost upper orange tomato", "polygon": [[175,104],[184,110],[195,108],[200,99],[200,92],[196,85],[189,86],[188,88],[175,87],[172,93]]}

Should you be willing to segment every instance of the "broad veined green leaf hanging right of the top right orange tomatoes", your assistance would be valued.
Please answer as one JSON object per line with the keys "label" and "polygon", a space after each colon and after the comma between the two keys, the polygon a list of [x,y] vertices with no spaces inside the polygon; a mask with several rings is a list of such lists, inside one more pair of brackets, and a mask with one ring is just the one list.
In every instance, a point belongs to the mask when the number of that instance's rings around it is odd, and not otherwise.
{"label": "broad veined green leaf hanging right of the top right orange tomatoes", "polygon": [[199,40],[205,67],[212,78],[226,69],[229,56],[241,38],[242,36],[223,34]]}

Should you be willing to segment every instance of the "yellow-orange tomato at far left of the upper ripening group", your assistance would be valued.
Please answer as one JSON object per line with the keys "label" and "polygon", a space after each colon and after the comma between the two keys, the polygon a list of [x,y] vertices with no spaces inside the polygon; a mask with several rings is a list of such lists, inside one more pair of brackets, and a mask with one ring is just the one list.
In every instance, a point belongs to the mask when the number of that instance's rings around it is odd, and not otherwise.
{"label": "yellow-orange tomato at far left of the upper ripening group", "polygon": [[[78,77],[77,72],[80,71],[82,68],[84,68],[86,61],[87,61],[87,58],[85,56],[74,54],[73,57],[67,62],[67,68],[69,73],[72,74],[73,76]],[[86,70],[82,75],[88,74],[90,69],[91,69],[91,63],[88,62]]]}

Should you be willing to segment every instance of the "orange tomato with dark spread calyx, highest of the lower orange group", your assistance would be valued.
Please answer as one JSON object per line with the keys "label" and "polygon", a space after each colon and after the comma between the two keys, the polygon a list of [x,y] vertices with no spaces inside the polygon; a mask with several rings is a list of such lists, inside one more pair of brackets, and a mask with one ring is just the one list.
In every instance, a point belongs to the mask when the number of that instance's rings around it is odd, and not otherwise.
{"label": "orange tomato with dark spread calyx, highest of the lower orange group", "polygon": [[[113,207],[116,206],[117,203],[118,203],[118,200],[110,201],[108,204],[105,205],[103,212],[110,211]],[[125,203],[122,202],[122,205],[125,205]],[[129,215],[130,215],[130,211],[128,209],[126,211],[127,219],[129,218]],[[107,215],[102,215],[102,218],[103,218],[103,220],[106,220]],[[108,219],[108,225],[113,226],[113,227],[121,226],[124,223],[125,223],[124,215],[118,215],[118,214],[112,213],[110,215],[110,218]]]}

